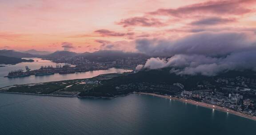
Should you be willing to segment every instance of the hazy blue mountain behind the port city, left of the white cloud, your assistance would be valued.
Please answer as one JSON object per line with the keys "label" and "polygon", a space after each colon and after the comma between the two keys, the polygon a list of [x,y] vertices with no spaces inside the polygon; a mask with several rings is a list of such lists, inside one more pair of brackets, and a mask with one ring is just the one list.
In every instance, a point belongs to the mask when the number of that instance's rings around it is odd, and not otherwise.
{"label": "hazy blue mountain behind the port city, left of the white cloud", "polygon": [[83,56],[85,59],[93,61],[113,61],[116,59],[123,59],[127,57],[140,57],[147,58],[145,54],[133,53],[133,52],[122,52],[122,51],[112,51],[112,50],[101,50],[96,52],[84,52],[79,56]]}

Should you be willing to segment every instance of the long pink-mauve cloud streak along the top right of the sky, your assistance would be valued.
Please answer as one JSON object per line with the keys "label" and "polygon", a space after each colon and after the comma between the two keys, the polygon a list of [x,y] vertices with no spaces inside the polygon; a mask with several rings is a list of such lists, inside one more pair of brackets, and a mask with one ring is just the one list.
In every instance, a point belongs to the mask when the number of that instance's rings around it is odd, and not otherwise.
{"label": "long pink-mauve cloud streak along the top right of the sky", "polygon": [[190,16],[193,14],[243,15],[252,12],[252,9],[247,8],[245,5],[254,4],[255,2],[256,0],[215,0],[176,9],[158,9],[148,14],[176,17]]}

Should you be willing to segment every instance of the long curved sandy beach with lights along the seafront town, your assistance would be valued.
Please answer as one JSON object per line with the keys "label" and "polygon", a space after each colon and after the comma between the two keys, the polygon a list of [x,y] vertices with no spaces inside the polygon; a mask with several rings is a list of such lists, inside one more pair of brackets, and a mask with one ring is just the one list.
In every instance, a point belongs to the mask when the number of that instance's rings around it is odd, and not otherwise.
{"label": "long curved sandy beach with lights along the seafront town", "polygon": [[180,102],[185,102],[185,103],[190,103],[190,104],[193,104],[193,105],[198,105],[198,106],[201,106],[201,107],[216,109],[218,111],[231,113],[231,114],[234,114],[234,115],[238,115],[238,116],[245,117],[245,118],[252,119],[252,120],[256,121],[255,116],[247,115],[247,114],[244,114],[244,113],[240,113],[238,111],[231,110],[231,109],[226,108],[226,107],[220,107],[220,106],[212,105],[212,104],[209,104],[209,103],[197,102],[197,101],[194,101],[194,100],[191,100],[191,99],[179,99],[179,98],[176,98],[176,97],[170,97],[170,96],[166,96],[166,95],[158,95],[158,94],[153,94],[153,93],[143,93],[143,92],[136,92],[136,93],[144,94],[144,95],[153,95],[153,96],[158,96],[158,97],[161,97],[161,98],[174,99],[174,100],[177,100],[177,101],[180,101]]}

